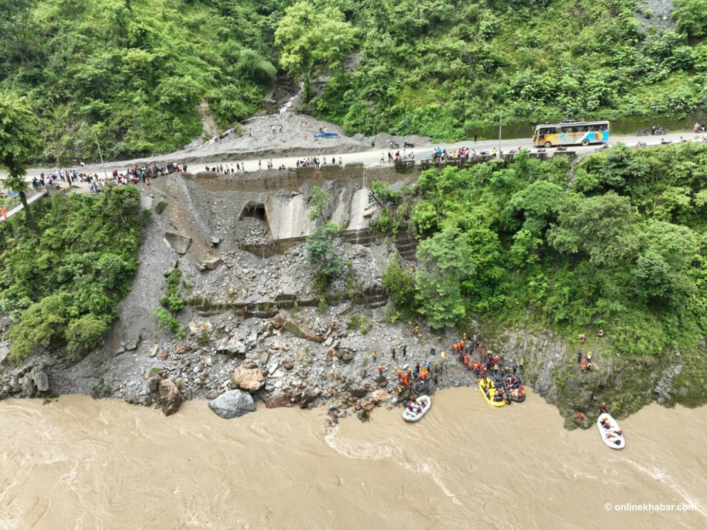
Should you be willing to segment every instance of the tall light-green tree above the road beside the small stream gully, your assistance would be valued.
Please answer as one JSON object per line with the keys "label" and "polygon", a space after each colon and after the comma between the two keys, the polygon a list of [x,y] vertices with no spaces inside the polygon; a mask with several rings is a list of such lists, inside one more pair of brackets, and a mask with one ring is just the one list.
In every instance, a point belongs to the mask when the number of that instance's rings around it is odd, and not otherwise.
{"label": "tall light-green tree above the road beside the small stream gully", "polygon": [[300,1],[285,11],[275,32],[282,46],[281,66],[305,83],[305,100],[311,97],[312,77],[323,66],[343,68],[346,54],[354,48],[354,29],[334,6],[317,9]]}

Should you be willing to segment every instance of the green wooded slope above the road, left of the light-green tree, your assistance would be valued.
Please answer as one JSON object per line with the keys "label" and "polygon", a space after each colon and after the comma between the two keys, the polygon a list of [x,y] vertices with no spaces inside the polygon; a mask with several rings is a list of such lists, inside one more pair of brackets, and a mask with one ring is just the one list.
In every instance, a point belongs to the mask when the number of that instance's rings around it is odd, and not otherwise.
{"label": "green wooded slope above the road, left of the light-green tree", "polygon": [[[286,0],[9,0],[0,10],[0,92],[28,94],[42,158],[180,148],[254,114],[274,79]],[[201,108],[201,111],[200,111]]]}

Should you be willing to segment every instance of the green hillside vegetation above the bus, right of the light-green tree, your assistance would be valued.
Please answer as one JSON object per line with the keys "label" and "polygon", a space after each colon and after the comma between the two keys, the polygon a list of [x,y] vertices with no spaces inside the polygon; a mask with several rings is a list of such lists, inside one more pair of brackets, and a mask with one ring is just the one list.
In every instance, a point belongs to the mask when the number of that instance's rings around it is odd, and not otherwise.
{"label": "green hillside vegetation above the bus, right of the light-green tree", "polygon": [[[312,112],[349,133],[468,138],[480,125],[689,112],[707,101],[707,4],[675,29],[637,0],[322,0],[360,43]],[[642,28],[641,20],[647,20]],[[653,23],[655,25],[655,23]],[[660,26],[657,26],[660,28]]]}

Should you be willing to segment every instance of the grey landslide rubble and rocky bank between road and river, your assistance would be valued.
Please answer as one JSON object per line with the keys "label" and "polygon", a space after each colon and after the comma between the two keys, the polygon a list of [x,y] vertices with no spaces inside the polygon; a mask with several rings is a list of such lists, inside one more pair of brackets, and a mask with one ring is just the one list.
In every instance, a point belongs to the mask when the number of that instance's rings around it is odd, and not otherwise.
{"label": "grey landslide rubble and rocky bank between road and river", "polygon": [[[268,407],[329,406],[334,417],[354,412],[365,419],[375,406],[400,400],[396,372],[404,365],[428,360],[436,376],[429,381],[431,392],[474,386],[474,374],[449,349],[466,332],[479,334],[507,365],[524,360],[524,382],[558,406],[568,428],[590,425],[602,401],[619,418],[653,400],[699,403],[699,384],[686,377],[680,351],[620,357],[612,353],[610,329],[606,338],[583,346],[595,353],[589,373],[576,363],[580,347],[574,338],[531,325],[469,322],[443,333],[421,326],[413,334],[421,323],[392,322],[395,310],[382,289],[382,267],[396,250],[404,264],[414,266],[414,248],[402,252],[400,241],[364,234],[358,225],[356,237],[336,243],[349,264],[346,273],[320,296],[302,237],[288,237],[276,252],[267,247],[276,234],[299,235],[293,227],[308,233],[302,211],[311,184],[296,182],[292,176],[287,189],[272,189],[240,179],[240,189],[209,189],[173,175],[144,187],[144,206],[153,213],[144,230],[141,266],[103,346],[78,363],[63,360],[61,348],[48,348],[15,366],[0,343],[0,399],[91,394],[156,404],[171,414],[183,399],[213,400],[238,390]],[[375,216],[361,189],[333,177],[322,187],[334,199],[327,218],[350,226],[354,210]],[[160,329],[154,316],[167,290],[165,277],[176,270],[177,294],[187,304],[177,314],[185,330],[179,337]],[[0,334],[7,326],[7,319],[0,320]],[[441,351],[448,355],[443,358]],[[575,420],[578,412],[586,416],[584,423]]]}

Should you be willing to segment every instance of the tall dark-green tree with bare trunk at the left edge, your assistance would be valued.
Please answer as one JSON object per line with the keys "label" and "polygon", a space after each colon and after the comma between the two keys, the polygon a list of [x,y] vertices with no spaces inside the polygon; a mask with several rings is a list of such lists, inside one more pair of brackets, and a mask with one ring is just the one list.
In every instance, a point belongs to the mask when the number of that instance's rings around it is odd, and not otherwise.
{"label": "tall dark-green tree with bare trunk at the left edge", "polygon": [[25,195],[29,189],[25,175],[29,160],[39,146],[36,126],[37,119],[24,98],[0,95],[0,167],[8,170],[8,177],[3,185],[20,195],[27,224],[35,232],[37,224]]}

